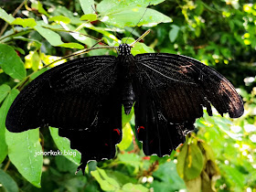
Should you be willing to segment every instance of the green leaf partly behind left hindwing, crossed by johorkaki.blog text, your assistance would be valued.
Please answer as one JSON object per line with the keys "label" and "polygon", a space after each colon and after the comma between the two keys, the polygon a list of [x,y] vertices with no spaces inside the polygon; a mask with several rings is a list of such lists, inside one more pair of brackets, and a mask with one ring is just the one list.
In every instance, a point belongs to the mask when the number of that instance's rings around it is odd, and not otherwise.
{"label": "green leaf partly behind left hindwing, crossed by johorkaki.blog text", "polygon": [[59,136],[58,128],[49,127],[49,131],[54,143],[59,148],[59,151],[61,151],[63,154],[67,152],[66,153],[67,155],[65,155],[65,157],[68,158],[74,164],[80,165],[80,153],[78,152],[78,150],[74,150],[70,148],[69,139]]}

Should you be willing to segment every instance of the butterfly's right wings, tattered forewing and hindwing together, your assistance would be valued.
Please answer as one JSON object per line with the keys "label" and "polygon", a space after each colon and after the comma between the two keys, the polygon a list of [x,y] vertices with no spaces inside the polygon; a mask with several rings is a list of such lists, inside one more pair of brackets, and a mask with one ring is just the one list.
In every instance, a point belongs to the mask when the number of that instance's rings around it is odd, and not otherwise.
{"label": "butterfly's right wings, tattered forewing and hindwing together", "polygon": [[231,83],[201,62],[162,53],[134,58],[135,123],[145,155],[169,155],[194,129],[203,106],[209,115],[210,104],[232,118],[243,113],[240,95]]}

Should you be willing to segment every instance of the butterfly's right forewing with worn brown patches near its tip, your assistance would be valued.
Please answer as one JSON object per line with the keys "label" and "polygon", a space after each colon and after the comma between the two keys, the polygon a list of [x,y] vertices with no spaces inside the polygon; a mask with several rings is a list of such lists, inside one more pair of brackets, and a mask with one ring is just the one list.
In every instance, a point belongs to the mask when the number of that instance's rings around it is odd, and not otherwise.
{"label": "butterfly's right forewing with worn brown patches near its tip", "polygon": [[[229,112],[232,118],[243,113],[240,95],[229,80],[196,59],[161,53],[141,54],[135,59],[139,70],[136,74],[146,73],[139,77],[144,89],[162,103],[169,114],[166,116],[178,112],[181,117],[176,116],[180,119],[177,122],[187,121],[193,109],[197,117],[201,116],[198,108],[209,107],[209,102],[219,113]],[[174,123],[176,118],[172,118]]]}

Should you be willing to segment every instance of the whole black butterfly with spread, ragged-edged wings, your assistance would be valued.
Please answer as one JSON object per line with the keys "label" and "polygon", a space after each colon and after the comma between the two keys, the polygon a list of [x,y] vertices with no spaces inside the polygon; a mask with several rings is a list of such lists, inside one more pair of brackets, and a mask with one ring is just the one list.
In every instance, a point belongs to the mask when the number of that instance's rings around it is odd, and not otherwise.
{"label": "whole black butterfly with spread, ragged-edged wings", "polygon": [[196,59],[167,53],[135,57],[122,44],[118,57],[74,59],[49,69],[20,92],[6,118],[10,132],[50,125],[89,160],[113,158],[122,140],[122,105],[134,103],[136,136],[145,155],[169,155],[212,104],[231,118],[244,111],[240,95],[216,70]]}

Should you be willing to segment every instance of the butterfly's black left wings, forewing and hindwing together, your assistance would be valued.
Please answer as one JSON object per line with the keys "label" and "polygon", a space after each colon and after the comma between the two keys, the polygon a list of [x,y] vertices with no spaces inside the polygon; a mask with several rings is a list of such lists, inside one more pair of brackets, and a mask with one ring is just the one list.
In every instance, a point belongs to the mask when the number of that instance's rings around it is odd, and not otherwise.
{"label": "butterfly's black left wings, forewing and hindwing together", "polygon": [[111,158],[122,137],[116,77],[114,56],[75,59],[49,69],[17,96],[6,128],[23,132],[45,125],[58,127],[71,146],[87,155],[82,159],[85,165],[89,159]]}

